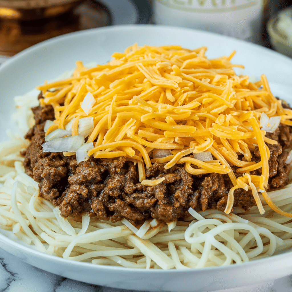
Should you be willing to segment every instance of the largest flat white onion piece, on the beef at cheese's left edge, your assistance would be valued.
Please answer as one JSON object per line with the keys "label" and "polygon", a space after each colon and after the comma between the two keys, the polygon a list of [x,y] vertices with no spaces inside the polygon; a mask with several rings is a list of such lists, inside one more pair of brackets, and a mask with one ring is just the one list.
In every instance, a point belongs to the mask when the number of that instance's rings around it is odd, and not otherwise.
{"label": "largest flat white onion piece, on the beef at cheese's left edge", "polygon": [[44,152],[76,152],[84,144],[81,135],[48,140],[42,145]]}

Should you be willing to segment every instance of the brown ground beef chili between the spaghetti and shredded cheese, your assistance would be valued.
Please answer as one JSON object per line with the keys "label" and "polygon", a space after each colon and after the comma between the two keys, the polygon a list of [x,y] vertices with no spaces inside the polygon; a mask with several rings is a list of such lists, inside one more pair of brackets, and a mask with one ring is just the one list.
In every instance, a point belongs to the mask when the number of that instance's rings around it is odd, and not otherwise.
{"label": "brown ground beef chili between the spaghetti and shredded cheese", "polygon": [[[227,174],[192,175],[183,165],[177,164],[165,169],[163,163],[155,163],[146,171],[147,179],[165,180],[156,186],[145,186],[139,182],[138,168],[125,157],[117,159],[94,159],[77,165],[76,156],[65,157],[62,153],[43,152],[45,142],[44,122],[53,120],[51,106],[35,107],[36,125],[29,130],[26,138],[30,145],[23,152],[25,172],[39,182],[40,195],[59,206],[61,215],[78,216],[89,212],[102,220],[116,222],[127,218],[139,224],[147,218],[164,222],[189,217],[188,209],[196,211],[218,209],[224,211],[228,192],[233,186]],[[288,183],[288,152],[292,145],[292,127],[280,126],[267,135],[279,141],[270,149],[270,188],[283,187]],[[252,152],[252,160],[260,161],[258,147]],[[232,166],[234,174],[237,167]],[[261,169],[251,172],[261,174]],[[249,210],[256,202],[251,191],[234,191],[234,207]]]}

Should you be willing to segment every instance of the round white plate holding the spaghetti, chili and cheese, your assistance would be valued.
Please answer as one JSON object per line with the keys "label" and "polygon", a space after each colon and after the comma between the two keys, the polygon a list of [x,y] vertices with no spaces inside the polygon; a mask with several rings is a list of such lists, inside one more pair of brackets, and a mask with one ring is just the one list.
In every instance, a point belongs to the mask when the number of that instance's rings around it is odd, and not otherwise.
{"label": "round white plate holding the spaghetti, chili and cheese", "polygon": [[[259,78],[262,73],[269,81],[290,88],[292,60],[266,48],[226,36],[192,29],[151,25],[115,26],[92,29],[50,39],[14,56],[0,67],[0,141],[7,140],[5,130],[14,128],[10,121],[13,97],[21,95],[44,80],[53,79],[76,60],[85,64],[107,62],[115,51],[137,42],[139,45],[180,44],[187,48],[207,46],[208,58],[237,54],[233,63],[246,66],[245,73]],[[284,90],[284,89],[283,89]],[[289,89],[285,91],[289,98]],[[281,94],[279,92],[278,94]],[[284,93],[283,93],[284,94]],[[279,96],[281,97],[281,96]],[[292,98],[288,101],[291,102]],[[148,291],[212,291],[251,285],[292,274],[292,252],[241,265],[197,270],[141,271],[123,267],[105,267],[80,263],[46,255],[13,239],[9,232],[0,234],[1,248],[38,268],[71,279],[115,288]],[[12,238],[12,239],[9,239]]]}

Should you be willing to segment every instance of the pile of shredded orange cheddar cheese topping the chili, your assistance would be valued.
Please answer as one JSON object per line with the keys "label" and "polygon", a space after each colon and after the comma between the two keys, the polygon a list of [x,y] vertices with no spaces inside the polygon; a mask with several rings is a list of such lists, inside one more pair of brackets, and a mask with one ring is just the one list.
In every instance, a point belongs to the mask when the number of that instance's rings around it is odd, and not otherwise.
{"label": "pile of shredded orange cheddar cheese topping the chili", "polygon": [[[258,192],[274,210],[282,212],[266,193],[270,153],[265,142],[277,142],[265,137],[260,116],[280,116],[281,123],[291,125],[292,111],[272,95],[265,75],[253,83],[247,75],[235,74],[233,67],[244,68],[231,64],[235,51],[229,57],[209,60],[206,50],[135,44],[124,53],[114,53],[105,65],[88,69],[78,61],[71,78],[38,87],[44,96],[41,105],[52,105],[55,112],[46,135],[69,123],[72,136],[78,135],[80,119],[88,117],[93,120],[87,140],[93,142],[93,149],[88,156],[126,157],[138,164],[139,179],[145,185],[163,181],[145,180],[145,166],[156,161],[167,162],[166,169],[184,164],[191,174],[229,175],[234,187],[226,213],[232,210],[237,188],[252,191],[260,213],[264,209]],[[255,145],[260,151],[258,163],[251,161]],[[150,159],[153,149],[168,150],[169,154]],[[215,160],[193,156],[206,151]],[[242,173],[239,178],[233,165]],[[259,168],[262,175],[249,174]]]}

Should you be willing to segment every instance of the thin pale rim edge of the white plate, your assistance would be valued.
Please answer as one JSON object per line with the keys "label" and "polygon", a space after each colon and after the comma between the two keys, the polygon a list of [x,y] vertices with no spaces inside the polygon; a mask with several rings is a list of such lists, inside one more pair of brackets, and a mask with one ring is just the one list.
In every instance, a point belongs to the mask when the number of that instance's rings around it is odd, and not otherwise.
{"label": "thin pale rim edge of the white plate", "polygon": [[[29,55],[29,54],[36,52],[39,48],[49,46],[51,43],[55,43],[55,41],[58,41],[58,39],[70,40],[78,35],[94,34],[95,31],[102,34],[104,32],[111,31],[111,30],[119,31],[119,30],[127,30],[127,29],[145,29],[145,28],[146,29],[148,29],[148,28],[149,29],[150,28],[151,29],[171,29],[171,30],[175,29],[178,31],[190,31],[190,32],[196,32],[197,34],[208,35],[208,36],[215,37],[215,38],[219,37],[220,39],[223,39],[223,40],[227,39],[229,41],[235,41],[239,44],[248,45],[248,46],[256,47],[258,49],[262,49],[262,50],[266,51],[268,54],[270,54],[271,56],[288,61],[289,63],[291,63],[291,68],[292,68],[292,59],[291,58],[284,56],[284,55],[281,55],[278,52],[272,51],[269,48],[265,48],[265,47],[259,46],[257,44],[248,43],[246,41],[242,41],[239,39],[234,39],[234,38],[231,38],[229,36],[219,35],[219,34],[215,34],[212,32],[204,32],[201,30],[190,29],[190,28],[181,28],[181,27],[172,27],[172,26],[163,26],[163,25],[142,25],[142,24],[135,25],[135,24],[133,24],[133,25],[116,25],[116,26],[93,28],[93,29],[88,29],[88,30],[84,30],[84,31],[72,32],[69,34],[62,35],[62,36],[56,36],[52,39],[48,39],[46,41],[43,41],[39,44],[36,44],[34,46],[31,46],[31,47],[21,51],[20,53],[14,55],[12,58],[7,60],[4,64],[0,65],[0,74],[2,73],[2,71],[5,71],[6,67],[9,67],[11,64],[14,64],[22,57],[25,57],[26,55]],[[141,269],[137,269],[137,268],[125,268],[125,267],[119,267],[119,266],[95,265],[92,263],[76,262],[76,261],[60,258],[57,256],[52,256],[52,255],[37,251],[33,248],[19,244],[16,241],[13,241],[12,239],[10,239],[10,238],[6,237],[4,234],[2,234],[1,230],[2,229],[0,228],[0,240],[2,242],[6,241],[6,244],[13,245],[13,246],[15,246],[15,248],[18,248],[18,249],[24,249],[25,252],[27,252],[27,253],[33,253],[39,257],[47,257],[49,260],[57,260],[57,261],[61,261],[63,263],[68,263],[68,264],[72,264],[74,262],[76,265],[80,265],[80,267],[82,267],[82,266],[94,267],[94,269],[97,269],[97,270],[106,269],[106,270],[117,270],[119,272],[123,272],[123,271],[124,272],[141,272],[142,271],[143,273],[145,273],[145,272],[147,272],[147,273],[161,273],[161,272],[163,272],[163,273],[165,273],[165,272],[167,272],[167,273],[194,273],[194,272],[202,272],[202,271],[207,271],[207,270],[208,271],[212,271],[212,270],[219,271],[219,269],[220,270],[229,270],[229,269],[234,269],[234,267],[240,267],[242,265],[248,266],[248,265],[256,265],[256,264],[264,264],[264,263],[268,263],[268,262],[270,263],[271,259],[272,259],[272,261],[275,261],[275,260],[280,260],[282,258],[288,258],[288,257],[292,256],[292,249],[291,249],[291,251],[287,251],[285,253],[281,253],[281,254],[278,254],[275,256],[270,256],[268,258],[258,259],[258,260],[254,260],[254,261],[250,261],[250,262],[246,262],[246,263],[241,263],[241,264],[231,264],[231,265],[227,265],[227,266],[204,267],[204,268],[199,268],[199,269],[192,269],[190,271],[188,271],[188,270],[159,270],[159,269],[141,270]],[[18,257],[18,258],[20,258],[20,257]]]}

